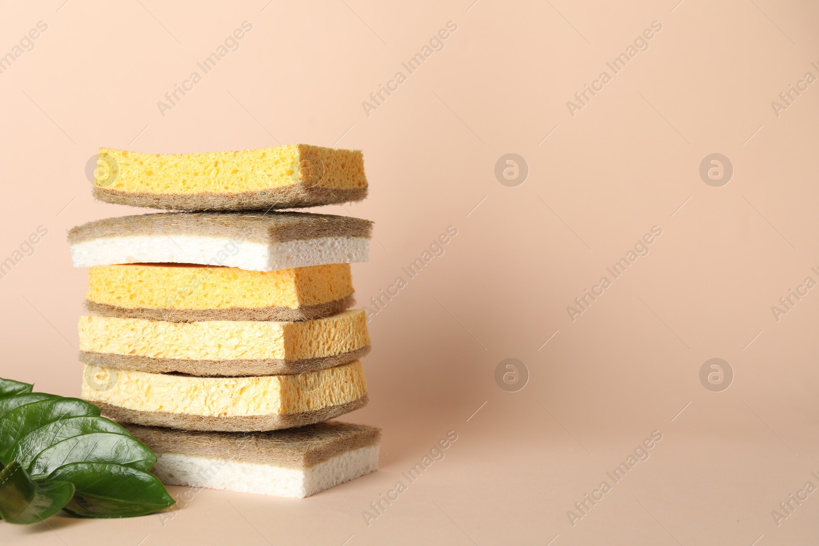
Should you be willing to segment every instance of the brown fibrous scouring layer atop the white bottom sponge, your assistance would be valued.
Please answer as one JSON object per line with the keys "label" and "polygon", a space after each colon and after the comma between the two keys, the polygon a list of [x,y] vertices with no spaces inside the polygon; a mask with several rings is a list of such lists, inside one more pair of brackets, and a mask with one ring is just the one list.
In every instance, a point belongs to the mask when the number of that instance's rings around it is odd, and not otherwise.
{"label": "brown fibrous scouring layer atop the white bottom sponge", "polygon": [[380,440],[375,426],[328,421],[282,431],[188,432],[123,423],[157,454],[174,453],[242,463],[308,468],[328,458],[373,445]]}

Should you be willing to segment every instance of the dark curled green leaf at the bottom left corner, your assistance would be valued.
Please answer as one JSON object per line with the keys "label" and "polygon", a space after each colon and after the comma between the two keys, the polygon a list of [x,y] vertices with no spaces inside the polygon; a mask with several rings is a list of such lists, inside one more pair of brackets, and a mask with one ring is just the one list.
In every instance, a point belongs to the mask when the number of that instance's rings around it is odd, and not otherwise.
{"label": "dark curled green leaf at the bottom left corner", "polygon": [[66,481],[35,483],[20,463],[0,472],[0,516],[9,523],[25,525],[52,517],[74,496],[74,485]]}

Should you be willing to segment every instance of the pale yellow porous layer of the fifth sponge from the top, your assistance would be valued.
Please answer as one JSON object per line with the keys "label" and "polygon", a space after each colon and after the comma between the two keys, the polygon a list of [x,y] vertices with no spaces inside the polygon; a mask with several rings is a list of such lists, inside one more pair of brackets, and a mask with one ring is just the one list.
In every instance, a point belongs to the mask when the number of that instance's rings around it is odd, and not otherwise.
{"label": "pale yellow porous layer of the fifth sponge from the top", "polygon": [[[101,375],[105,381],[97,380]],[[201,417],[305,413],[348,404],[366,393],[358,360],[318,372],[264,377],[191,377],[86,365],[82,387],[88,402]]]}

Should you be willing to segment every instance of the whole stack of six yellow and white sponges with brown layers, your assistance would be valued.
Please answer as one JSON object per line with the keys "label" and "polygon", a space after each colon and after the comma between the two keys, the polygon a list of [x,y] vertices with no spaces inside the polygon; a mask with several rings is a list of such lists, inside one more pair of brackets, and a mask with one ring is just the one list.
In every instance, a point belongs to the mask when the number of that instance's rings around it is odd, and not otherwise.
{"label": "whole stack of six yellow and white sponges with brown layers", "polygon": [[90,268],[82,397],[168,485],[303,498],[376,470],[379,429],[328,421],[367,403],[350,263],[372,223],[278,210],[364,199],[360,151],[101,148],[97,165],[97,199],[173,212],[69,232]]}

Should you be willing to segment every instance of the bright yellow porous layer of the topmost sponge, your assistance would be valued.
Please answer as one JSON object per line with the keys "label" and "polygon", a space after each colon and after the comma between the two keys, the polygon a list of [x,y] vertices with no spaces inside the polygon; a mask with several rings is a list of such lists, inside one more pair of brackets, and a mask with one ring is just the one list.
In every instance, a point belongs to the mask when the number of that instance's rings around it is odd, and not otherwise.
{"label": "bright yellow porous layer of the topmost sponge", "polygon": [[119,192],[194,195],[257,192],[299,184],[333,189],[367,187],[361,151],[306,144],[192,154],[101,147],[97,157],[118,170],[112,182],[111,178],[100,178],[95,179],[95,185]]}

